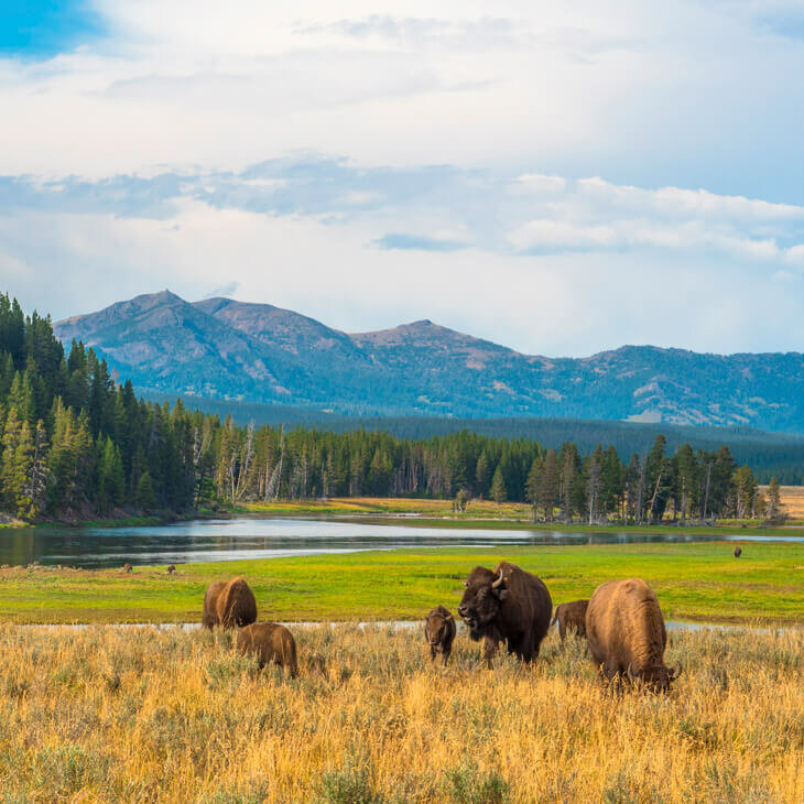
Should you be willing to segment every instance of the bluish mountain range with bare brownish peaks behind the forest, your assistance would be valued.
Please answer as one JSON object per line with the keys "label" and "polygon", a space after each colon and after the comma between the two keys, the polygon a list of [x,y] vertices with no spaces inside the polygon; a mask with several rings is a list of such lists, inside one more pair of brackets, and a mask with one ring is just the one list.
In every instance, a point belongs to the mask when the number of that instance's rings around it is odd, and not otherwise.
{"label": "bluish mountain range with bare brownish peaks behind the forest", "polygon": [[552,416],[804,432],[804,356],[508,349],[430,320],[347,334],[268,304],[169,291],[55,325],[149,392],[360,415]]}

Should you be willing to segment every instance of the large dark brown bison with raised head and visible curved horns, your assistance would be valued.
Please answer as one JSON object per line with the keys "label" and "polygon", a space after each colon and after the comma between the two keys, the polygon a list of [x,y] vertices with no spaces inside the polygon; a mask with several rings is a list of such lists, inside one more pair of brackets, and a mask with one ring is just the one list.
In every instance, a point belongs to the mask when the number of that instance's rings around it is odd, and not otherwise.
{"label": "large dark brown bison with raised head and visible curved horns", "polygon": [[482,639],[487,665],[491,667],[501,641],[508,642],[509,653],[532,662],[553,613],[553,601],[542,580],[515,564],[501,562],[493,572],[475,567],[464,586],[458,613],[469,627],[469,637]]}

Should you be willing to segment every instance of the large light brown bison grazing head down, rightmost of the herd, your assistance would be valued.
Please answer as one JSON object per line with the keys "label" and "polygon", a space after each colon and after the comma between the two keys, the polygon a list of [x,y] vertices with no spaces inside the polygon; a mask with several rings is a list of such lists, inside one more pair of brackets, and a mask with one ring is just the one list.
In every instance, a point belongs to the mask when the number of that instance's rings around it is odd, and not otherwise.
{"label": "large light brown bison grazing head down, rightmost of the herd", "polygon": [[600,674],[667,692],[680,671],[664,664],[667,631],[659,600],[639,578],[609,580],[595,589],[586,610],[586,639]]}

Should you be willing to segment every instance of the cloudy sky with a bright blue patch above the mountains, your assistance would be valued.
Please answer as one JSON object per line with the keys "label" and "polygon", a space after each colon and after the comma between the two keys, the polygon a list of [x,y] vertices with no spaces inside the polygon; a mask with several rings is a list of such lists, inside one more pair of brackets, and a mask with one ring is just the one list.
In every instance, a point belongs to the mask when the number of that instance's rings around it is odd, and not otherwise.
{"label": "cloudy sky with a bright blue patch above the mountains", "polygon": [[0,7],[26,309],[170,289],[547,356],[802,350],[804,0]]}

